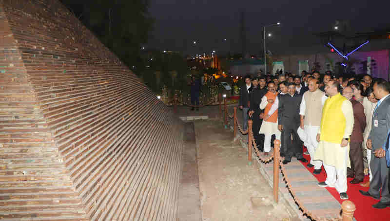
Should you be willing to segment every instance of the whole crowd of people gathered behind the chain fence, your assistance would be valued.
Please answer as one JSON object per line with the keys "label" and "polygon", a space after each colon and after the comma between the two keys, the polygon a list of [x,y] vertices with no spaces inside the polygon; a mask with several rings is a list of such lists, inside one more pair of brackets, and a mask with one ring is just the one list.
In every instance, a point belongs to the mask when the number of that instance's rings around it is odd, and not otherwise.
{"label": "whole crowd of people gathered behind the chain fence", "polygon": [[[326,180],[318,185],[336,188],[341,199],[348,199],[347,178],[353,178],[351,184],[370,187],[359,191],[379,200],[374,208],[386,208],[390,207],[389,93],[388,81],[369,74],[335,76],[313,70],[301,75],[247,75],[240,88],[242,127],[246,130],[248,119],[253,120],[255,143],[264,155],[278,139],[283,164],[295,157],[314,167],[314,174],[323,167]],[[366,183],[363,151],[370,176]],[[310,162],[304,154],[310,155]]]}

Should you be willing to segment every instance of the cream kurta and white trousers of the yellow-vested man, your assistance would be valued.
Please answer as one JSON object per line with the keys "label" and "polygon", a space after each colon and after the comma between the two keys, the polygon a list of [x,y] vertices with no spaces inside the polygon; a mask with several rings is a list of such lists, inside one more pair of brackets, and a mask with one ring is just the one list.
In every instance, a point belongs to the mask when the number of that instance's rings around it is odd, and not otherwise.
{"label": "cream kurta and white trousers of the yellow-vested man", "polygon": [[[344,101],[341,106],[341,111],[346,120],[343,137],[349,138],[354,123],[351,101]],[[318,129],[318,133],[321,133],[321,128]],[[320,141],[314,154],[314,160],[322,160],[324,163],[324,168],[327,173],[325,183],[336,187],[339,193],[347,192],[347,167],[351,166],[349,152],[349,143],[346,147],[341,147],[340,144]]]}

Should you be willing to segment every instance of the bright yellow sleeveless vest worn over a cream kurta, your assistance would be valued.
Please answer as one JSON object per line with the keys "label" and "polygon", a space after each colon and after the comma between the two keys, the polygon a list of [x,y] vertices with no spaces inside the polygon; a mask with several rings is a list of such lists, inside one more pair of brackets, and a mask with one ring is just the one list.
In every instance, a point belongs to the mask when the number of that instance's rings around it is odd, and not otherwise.
{"label": "bright yellow sleeveless vest worn over a cream kurta", "polygon": [[341,106],[347,98],[340,93],[328,98],[322,109],[320,140],[341,144],[346,128],[346,119]]}

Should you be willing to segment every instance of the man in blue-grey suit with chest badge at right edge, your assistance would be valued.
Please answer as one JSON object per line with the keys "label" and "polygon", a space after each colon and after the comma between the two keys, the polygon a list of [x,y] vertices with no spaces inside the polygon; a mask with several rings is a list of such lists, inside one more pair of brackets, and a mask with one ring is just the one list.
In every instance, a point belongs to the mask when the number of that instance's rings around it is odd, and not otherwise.
{"label": "man in blue-grey suit with chest badge at right edge", "polygon": [[[389,167],[386,161],[386,151],[383,148],[387,142],[388,131],[390,130],[390,83],[384,79],[379,79],[374,84],[374,95],[379,99],[372,116],[372,128],[367,147],[372,148],[370,168],[372,171],[372,181],[369,191],[359,192],[365,196],[377,199],[379,203],[372,207],[382,209],[390,207],[389,193]],[[382,187],[382,198],[380,190]]]}

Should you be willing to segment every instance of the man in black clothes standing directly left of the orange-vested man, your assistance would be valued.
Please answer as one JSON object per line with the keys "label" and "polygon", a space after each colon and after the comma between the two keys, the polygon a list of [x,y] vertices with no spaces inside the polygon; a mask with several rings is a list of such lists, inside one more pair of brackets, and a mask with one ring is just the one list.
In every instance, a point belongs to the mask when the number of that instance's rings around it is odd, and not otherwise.
{"label": "man in black clothes standing directly left of the orange-vested man", "polygon": [[[255,87],[255,83],[259,82],[258,86]],[[257,83],[256,83],[257,84]],[[251,92],[250,97],[250,108],[249,108],[249,116],[252,117],[253,120],[253,136],[254,141],[256,142],[257,148],[260,151],[264,149],[264,134],[259,134],[261,124],[263,123],[263,118],[260,118],[260,114],[264,112],[260,109],[261,98],[267,93],[267,89],[265,88],[265,77],[254,78],[254,89]]]}

